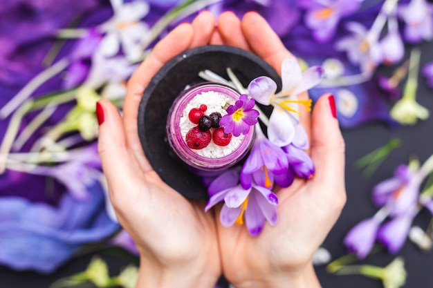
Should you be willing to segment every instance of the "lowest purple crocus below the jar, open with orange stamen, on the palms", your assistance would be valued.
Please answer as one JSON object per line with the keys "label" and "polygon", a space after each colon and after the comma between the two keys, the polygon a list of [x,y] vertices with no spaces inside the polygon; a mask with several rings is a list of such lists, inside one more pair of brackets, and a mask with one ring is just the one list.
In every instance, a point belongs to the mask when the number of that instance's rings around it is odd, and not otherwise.
{"label": "lowest purple crocus below the jar, open with orange stamen, on the palms", "polygon": [[271,225],[277,223],[277,195],[262,186],[252,184],[249,189],[243,189],[239,184],[220,191],[210,198],[205,211],[221,201],[224,204],[219,219],[225,227],[234,223],[243,224],[245,220],[248,233],[257,236],[266,220]]}

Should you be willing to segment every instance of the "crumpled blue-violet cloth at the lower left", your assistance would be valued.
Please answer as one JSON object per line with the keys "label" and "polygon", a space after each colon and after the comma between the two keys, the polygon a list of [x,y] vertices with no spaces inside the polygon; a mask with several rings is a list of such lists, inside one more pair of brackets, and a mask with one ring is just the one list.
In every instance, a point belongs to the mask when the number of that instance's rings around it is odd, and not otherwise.
{"label": "crumpled blue-violet cloth at the lower left", "polygon": [[104,211],[101,186],[93,184],[87,193],[87,201],[66,193],[57,207],[16,196],[1,197],[0,263],[50,273],[85,244],[111,236],[118,224]]}

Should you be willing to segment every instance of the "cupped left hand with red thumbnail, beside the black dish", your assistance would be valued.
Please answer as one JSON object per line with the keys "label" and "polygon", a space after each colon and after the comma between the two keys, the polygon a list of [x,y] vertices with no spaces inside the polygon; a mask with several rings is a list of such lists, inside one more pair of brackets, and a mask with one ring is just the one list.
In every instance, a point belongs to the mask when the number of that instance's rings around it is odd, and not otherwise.
{"label": "cupped left hand with red thumbnail, beside the black dish", "polygon": [[214,17],[205,11],[156,44],[129,79],[123,117],[107,100],[98,102],[102,167],[118,220],[140,252],[138,287],[212,287],[221,274],[214,216],[160,179],[142,152],[137,128],[151,78],[179,53],[210,44],[214,30]]}

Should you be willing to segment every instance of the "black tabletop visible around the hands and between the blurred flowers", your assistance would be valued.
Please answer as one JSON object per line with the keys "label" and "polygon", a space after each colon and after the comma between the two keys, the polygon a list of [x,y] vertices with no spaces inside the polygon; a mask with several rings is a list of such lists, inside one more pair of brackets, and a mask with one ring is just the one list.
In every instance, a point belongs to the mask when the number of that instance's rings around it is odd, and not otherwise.
{"label": "black tabletop visible around the hands and between the blurred flowers", "polygon": [[[433,61],[431,54],[432,44],[421,45],[422,62]],[[386,69],[385,69],[386,70]],[[418,102],[433,113],[433,89],[427,88],[425,79],[419,76]],[[423,163],[433,153],[433,116],[414,126],[390,128],[385,124],[371,123],[358,128],[342,130],[346,141],[346,187],[347,204],[342,211],[340,219],[326,238],[323,247],[331,252],[332,258],[340,258],[346,254],[342,239],[347,231],[356,223],[369,218],[378,210],[371,202],[371,188],[378,182],[391,177],[399,164],[407,164],[409,157],[416,156]],[[392,152],[380,165],[378,171],[369,178],[362,175],[353,167],[353,162],[360,157],[386,144],[391,138],[398,137],[400,148]],[[418,214],[414,224],[426,229],[432,215],[425,209]],[[32,249],[32,247],[28,247]],[[31,271],[18,272],[7,268],[0,268],[0,288],[48,288],[55,280],[74,273],[84,271],[94,254],[107,261],[111,275],[118,275],[121,269],[138,260],[121,249],[100,249],[92,253],[85,253],[68,261],[55,273],[40,275]],[[381,251],[365,260],[357,262],[384,267],[396,256],[403,256],[407,269],[407,282],[404,287],[423,288],[433,287],[433,251],[421,252],[412,242],[405,243],[397,255],[389,255]],[[323,266],[316,267],[317,275],[324,288],[365,288],[383,287],[379,280],[372,280],[362,276],[334,276],[327,273]],[[90,286],[87,286],[90,287]]]}

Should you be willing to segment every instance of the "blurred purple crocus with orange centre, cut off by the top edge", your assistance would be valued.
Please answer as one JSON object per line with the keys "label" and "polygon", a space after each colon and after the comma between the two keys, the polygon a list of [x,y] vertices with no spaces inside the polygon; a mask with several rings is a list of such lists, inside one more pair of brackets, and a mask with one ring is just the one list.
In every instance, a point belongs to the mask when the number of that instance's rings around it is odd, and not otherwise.
{"label": "blurred purple crocus with orange centre, cut off by the top edge", "polygon": [[342,17],[351,15],[360,7],[360,1],[351,0],[307,0],[297,1],[305,8],[305,25],[313,30],[313,37],[318,42],[331,39]]}

